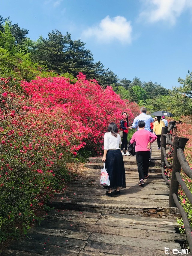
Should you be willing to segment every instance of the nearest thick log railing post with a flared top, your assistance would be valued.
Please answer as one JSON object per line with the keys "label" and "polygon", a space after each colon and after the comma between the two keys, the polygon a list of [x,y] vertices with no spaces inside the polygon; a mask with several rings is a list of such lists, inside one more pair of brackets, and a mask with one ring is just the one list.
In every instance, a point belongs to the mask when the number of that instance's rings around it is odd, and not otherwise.
{"label": "nearest thick log railing post with a flared top", "polygon": [[176,172],[181,173],[181,164],[177,157],[177,149],[181,148],[184,151],[184,147],[189,139],[182,137],[174,137],[173,140],[173,170],[171,175],[171,185],[170,185],[170,194],[169,194],[169,206],[176,207],[176,204],[173,200],[173,194],[178,194],[179,182],[176,178]]}

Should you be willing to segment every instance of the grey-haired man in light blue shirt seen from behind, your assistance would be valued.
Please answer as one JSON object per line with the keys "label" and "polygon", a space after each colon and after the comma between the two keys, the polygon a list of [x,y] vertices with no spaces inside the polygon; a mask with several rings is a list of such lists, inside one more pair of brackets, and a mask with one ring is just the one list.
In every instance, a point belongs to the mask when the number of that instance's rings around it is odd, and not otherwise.
{"label": "grey-haired man in light blue shirt seen from behind", "polygon": [[[138,127],[138,122],[139,121],[144,121],[145,122],[145,130],[147,131],[151,131],[151,123],[154,121],[152,116],[149,116],[146,114],[147,112],[147,109],[146,107],[142,107],[140,109],[140,115],[139,116],[136,116],[134,121],[133,121],[133,125],[132,125],[132,128],[137,128],[137,130],[139,130],[139,127]],[[151,161],[151,154],[152,154],[152,148],[150,147],[150,158],[149,158],[149,161]]]}

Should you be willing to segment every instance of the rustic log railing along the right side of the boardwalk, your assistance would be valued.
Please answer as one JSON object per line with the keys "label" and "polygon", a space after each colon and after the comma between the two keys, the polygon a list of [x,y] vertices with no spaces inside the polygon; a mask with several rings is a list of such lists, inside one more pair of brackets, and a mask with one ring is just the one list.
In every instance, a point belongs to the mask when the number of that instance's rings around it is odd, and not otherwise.
{"label": "rustic log railing along the right side of the boardwalk", "polygon": [[[189,164],[184,155],[184,147],[189,140],[188,138],[183,137],[174,137],[172,141],[173,129],[175,128],[176,122],[169,122],[169,128],[162,127],[161,132],[161,173],[167,185],[170,185],[170,195],[169,195],[169,206],[177,207],[182,215],[184,229],[187,236],[187,241],[189,243],[190,251],[192,251],[192,233],[190,224],[187,218],[187,214],[184,211],[184,208],[181,206],[178,200],[178,189],[179,184],[181,185],[186,197],[189,202],[192,204],[192,194],[187,188],[185,182],[181,177],[181,167],[184,173],[192,179],[192,170],[189,167]],[[172,130],[172,134],[170,131]],[[167,142],[166,142],[167,141]],[[169,145],[169,152],[171,151],[171,146],[173,147],[173,164],[169,164],[167,161],[166,145]],[[165,176],[164,167],[172,169],[171,182]]]}

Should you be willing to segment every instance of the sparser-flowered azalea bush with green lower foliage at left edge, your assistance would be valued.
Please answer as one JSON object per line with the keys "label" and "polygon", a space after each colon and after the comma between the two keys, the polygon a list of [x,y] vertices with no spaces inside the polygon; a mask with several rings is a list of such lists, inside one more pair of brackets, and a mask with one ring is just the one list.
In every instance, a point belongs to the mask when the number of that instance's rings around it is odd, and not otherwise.
{"label": "sparser-flowered azalea bush with green lower foliage at left edge", "polygon": [[10,79],[1,79],[0,242],[21,228],[26,233],[52,190],[71,177],[66,163],[82,141],[67,132],[71,126],[64,127],[67,117],[58,111],[37,110]]}

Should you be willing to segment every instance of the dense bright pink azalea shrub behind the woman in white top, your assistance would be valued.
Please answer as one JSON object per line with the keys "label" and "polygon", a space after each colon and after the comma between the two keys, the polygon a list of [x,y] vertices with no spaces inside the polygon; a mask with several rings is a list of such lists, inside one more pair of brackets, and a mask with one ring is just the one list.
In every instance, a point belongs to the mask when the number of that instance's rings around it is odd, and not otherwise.
{"label": "dense bright pink azalea shrub behind the woman in white top", "polygon": [[[52,77],[38,78],[30,83],[22,82],[21,86],[38,111],[41,108],[53,112],[59,109],[67,116],[68,124],[73,122],[70,129],[73,136],[81,136],[83,130],[82,141],[87,148],[99,154],[108,124],[116,122],[119,126],[123,111],[128,113],[130,123],[133,122],[139,113],[139,107],[122,100],[110,86],[103,89],[96,80],[86,80],[82,73],[77,78],[74,84],[70,84],[65,77]],[[75,151],[81,146],[71,150],[76,154]]]}

